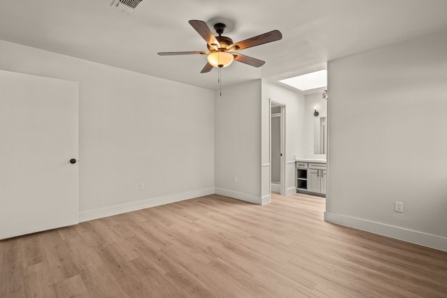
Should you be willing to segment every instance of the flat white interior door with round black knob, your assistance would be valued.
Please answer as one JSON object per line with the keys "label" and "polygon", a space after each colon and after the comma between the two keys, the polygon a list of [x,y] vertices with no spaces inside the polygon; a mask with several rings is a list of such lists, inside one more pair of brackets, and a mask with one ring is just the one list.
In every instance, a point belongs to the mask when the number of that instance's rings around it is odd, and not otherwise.
{"label": "flat white interior door with round black knob", "polygon": [[78,83],[0,70],[0,239],[78,223]]}

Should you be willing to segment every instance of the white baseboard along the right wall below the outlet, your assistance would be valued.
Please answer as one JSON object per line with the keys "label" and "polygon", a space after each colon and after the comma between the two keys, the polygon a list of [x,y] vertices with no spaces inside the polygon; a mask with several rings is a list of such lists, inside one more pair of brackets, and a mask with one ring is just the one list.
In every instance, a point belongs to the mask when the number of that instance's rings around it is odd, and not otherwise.
{"label": "white baseboard along the right wall below the outlet", "polygon": [[362,218],[355,218],[343,214],[336,214],[325,211],[324,220],[329,223],[337,223],[338,225],[345,225],[346,227],[355,228],[374,234],[380,234],[386,237],[399,239],[402,241],[419,244],[430,248],[439,249],[440,251],[447,251],[447,238],[415,230],[408,230],[405,228],[396,227],[394,225],[386,225],[384,223],[376,223],[374,221],[367,221]]}

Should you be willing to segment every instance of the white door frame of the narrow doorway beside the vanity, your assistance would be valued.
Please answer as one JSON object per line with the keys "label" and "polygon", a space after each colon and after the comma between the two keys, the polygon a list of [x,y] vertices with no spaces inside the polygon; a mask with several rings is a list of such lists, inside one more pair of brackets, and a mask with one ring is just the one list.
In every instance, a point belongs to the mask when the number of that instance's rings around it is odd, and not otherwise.
{"label": "white door frame of the narrow doorway beside the vanity", "polygon": [[287,104],[281,100],[276,100],[274,98],[269,98],[269,133],[268,133],[268,142],[269,142],[269,154],[268,160],[270,164],[269,170],[269,194],[272,195],[272,107],[281,107],[281,117],[279,120],[280,126],[280,150],[281,150],[281,158],[280,158],[280,179],[281,179],[281,195],[286,195],[286,184],[287,184],[287,167],[286,167],[286,107]]}

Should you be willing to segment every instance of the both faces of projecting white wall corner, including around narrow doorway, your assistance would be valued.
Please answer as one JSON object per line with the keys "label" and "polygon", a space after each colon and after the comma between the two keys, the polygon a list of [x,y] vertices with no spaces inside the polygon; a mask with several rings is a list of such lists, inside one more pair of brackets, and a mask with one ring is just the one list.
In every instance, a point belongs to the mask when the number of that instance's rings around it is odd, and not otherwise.
{"label": "both faces of projecting white wall corner, including around narrow doorway", "polygon": [[[270,202],[270,98],[286,103],[286,188],[295,192],[295,154],[303,154],[305,97],[268,82],[254,80],[216,93],[216,193],[240,200]],[[237,183],[234,177],[238,177]]]}

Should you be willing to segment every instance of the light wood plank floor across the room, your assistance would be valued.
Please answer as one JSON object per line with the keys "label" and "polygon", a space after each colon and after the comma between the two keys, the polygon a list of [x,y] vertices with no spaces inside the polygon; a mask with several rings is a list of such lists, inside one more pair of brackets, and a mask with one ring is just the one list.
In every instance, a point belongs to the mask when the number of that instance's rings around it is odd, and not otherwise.
{"label": "light wood plank floor across the room", "polygon": [[0,241],[0,297],[447,297],[447,253],[209,195]]}

